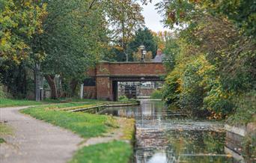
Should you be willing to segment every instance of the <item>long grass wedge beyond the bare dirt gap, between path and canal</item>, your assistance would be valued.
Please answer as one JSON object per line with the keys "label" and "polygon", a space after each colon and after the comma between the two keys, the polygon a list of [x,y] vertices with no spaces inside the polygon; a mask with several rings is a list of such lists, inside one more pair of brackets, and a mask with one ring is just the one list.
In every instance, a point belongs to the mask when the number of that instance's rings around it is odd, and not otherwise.
{"label": "long grass wedge beyond the bare dirt gap, between path and canal", "polygon": [[70,129],[83,138],[91,138],[103,135],[109,129],[116,127],[117,124],[112,117],[106,115],[72,113],[67,111],[58,111],[52,108],[64,108],[73,105],[82,105],[81,103],[67,103],[49,106],[36,106],[33,108],[22,109],[22,113],[29,114],[39,120],[44,120],[56,126]]}

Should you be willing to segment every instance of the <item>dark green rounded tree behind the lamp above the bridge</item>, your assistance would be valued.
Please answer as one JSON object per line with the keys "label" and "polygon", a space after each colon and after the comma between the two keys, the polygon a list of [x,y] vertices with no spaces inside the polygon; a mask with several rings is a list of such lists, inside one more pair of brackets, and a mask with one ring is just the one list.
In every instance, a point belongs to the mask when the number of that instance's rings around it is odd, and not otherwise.
{"label": "dark green rounded tree behind the lamp above the bridge", "polygon": [[145,46],[145,50],[147,52],[152,53],[152,57],[154,58],[156,56],[156,49],[157,45],[155,40],[153,39],[153,34],[148,28],[144,29],[138,29],[135,33],[134,39],[129,43],[127,52],[129,54],[129,57],[132,57],[133,52],[137,52],[138,47],[141,45]]}

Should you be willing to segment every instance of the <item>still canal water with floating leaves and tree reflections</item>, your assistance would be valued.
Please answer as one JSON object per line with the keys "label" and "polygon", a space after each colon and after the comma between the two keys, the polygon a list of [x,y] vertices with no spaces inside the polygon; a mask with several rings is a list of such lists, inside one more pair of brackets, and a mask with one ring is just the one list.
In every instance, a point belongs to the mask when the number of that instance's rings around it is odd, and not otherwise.
{"label": "still canal water with floating leaves and tree reflections", "polygon": [[237,162],[225,153],[223,123],[168,111],[163,102],[106,108],[100,114],[135,118],[134,162]]}

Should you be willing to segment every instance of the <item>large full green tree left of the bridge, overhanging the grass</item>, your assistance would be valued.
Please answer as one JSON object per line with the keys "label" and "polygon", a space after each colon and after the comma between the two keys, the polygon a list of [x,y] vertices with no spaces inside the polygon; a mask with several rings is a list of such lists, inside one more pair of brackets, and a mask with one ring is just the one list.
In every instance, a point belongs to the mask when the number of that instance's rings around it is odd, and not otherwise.
{"label": "large full green tree left of the bridge, overhanging the grass", "polygon": [[106,21],[103,10],[90,8],[88,1],[48,1],[47,11],[40,38],[47,55],[42,70],[52,98],[58,98],[55,75],[62,82],[82,82],[108,44]]}

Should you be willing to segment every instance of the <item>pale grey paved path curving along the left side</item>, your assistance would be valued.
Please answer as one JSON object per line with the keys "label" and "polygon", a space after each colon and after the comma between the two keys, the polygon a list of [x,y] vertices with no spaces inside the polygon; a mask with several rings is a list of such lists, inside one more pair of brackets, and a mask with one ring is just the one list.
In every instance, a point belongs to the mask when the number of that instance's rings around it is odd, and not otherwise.
{"label": "pale grey paved path curving along the left side", "polygon": [[7,121],[13,136],[4,138],[0,145],[1,163],[63,163],[68,162],[83,141],[70,131],[52,126],[16,108],[0,108],[0,121]]}

